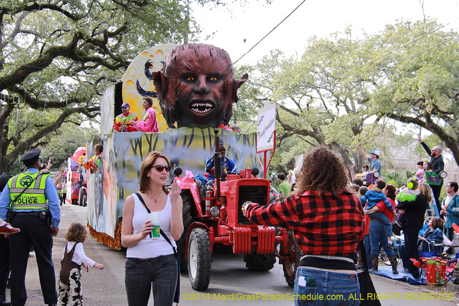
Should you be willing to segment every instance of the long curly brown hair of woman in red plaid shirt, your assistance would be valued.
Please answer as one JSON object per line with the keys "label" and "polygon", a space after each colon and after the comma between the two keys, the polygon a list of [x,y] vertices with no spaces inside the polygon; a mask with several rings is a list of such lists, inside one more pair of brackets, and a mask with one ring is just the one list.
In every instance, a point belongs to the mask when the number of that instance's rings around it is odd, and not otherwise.
{"label": "long curly brown hair of woman in red plaid shirt", "polygon": [[347,184],[343,160],[327,146],[314,148],[303,159],[297,179],[298,193],[307,190],[338,193],[346,190]]}

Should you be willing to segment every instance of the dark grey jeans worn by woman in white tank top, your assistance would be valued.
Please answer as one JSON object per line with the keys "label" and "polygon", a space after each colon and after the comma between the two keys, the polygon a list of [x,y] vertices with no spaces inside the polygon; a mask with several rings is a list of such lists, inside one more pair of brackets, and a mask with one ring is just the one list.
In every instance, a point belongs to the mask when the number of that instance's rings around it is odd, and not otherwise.
{"label": "dark grey jeans worn by woman in white tank top", "polygon": [[125,267],[129,306],[147,306],[151,288],[155,305],[172,305],[179,275],[174,254],[149,259],[128,258]]}

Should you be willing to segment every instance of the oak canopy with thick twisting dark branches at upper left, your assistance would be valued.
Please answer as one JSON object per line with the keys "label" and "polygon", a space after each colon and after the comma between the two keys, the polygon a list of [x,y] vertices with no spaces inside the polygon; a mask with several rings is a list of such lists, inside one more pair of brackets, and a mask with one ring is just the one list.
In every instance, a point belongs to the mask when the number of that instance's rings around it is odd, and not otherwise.
{"label": "oak canopy with thick twisting dark branches at upper left", "polygon": [[[95,118],[105,88],[142,50],[194,41],[199,25],[188,5],[182,0],[0,1],[0,171],[8,171],[25,150],[48,143],[49,133],[67,134],[58,131],[66,122],[78,126]],[[27,125],[19,115],[27,116]]]}

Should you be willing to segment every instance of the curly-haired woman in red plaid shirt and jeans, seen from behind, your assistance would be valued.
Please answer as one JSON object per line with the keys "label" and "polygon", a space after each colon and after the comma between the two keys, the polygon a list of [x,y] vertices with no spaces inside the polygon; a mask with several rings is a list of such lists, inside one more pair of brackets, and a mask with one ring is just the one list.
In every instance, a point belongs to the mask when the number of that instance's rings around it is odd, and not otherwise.
{"label": "curly-haired woman in red plaid shirt and jeans, seen from behind", "polygon": [[[364,238],[363,210],[347,191],[347,184],[342,159],[319,146],[303,160],[296,194],[267,206],[247,203],[243,207],[254,224],[293,230],[304,254],[296,271],[294,294],[322,295],[321,305],[336,304],[336,300],[328,302],[327,295],[342,295],[346,305],[360,304],[354,300],[360,290],[353,254]],[[305,303],[307,300],[295,300],[295,305]]]}

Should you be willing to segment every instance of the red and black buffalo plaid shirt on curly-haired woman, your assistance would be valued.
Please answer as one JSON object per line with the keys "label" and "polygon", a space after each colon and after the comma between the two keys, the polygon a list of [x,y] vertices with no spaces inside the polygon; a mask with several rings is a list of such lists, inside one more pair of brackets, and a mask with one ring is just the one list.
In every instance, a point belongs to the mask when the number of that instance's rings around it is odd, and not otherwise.
{"label": "red and black buffalo plaid shirt on curly-haired woman", "polygon": [[350,192],[306,191],[267,206],[249,203],[245,212],[255,224],[293,230],[304,254],[350,257],[364,238],[362,206]]}

